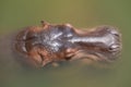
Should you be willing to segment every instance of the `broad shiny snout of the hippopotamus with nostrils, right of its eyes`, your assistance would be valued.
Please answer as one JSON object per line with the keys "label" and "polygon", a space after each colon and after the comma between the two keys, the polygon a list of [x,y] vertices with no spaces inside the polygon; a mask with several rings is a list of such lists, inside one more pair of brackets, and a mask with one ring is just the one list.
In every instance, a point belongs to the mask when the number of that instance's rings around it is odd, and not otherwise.
{"label": "broad shiny snout of the hippopotamus with nostrils, right of its eyes", "polygon": [[[79,34],[79,33],[78,33]],[[80,58],[114,61],[121,52],[121,34],[112,26],[97,26],[70,39],[80,47]],[[78,57],[75,57],[78,58]]]}

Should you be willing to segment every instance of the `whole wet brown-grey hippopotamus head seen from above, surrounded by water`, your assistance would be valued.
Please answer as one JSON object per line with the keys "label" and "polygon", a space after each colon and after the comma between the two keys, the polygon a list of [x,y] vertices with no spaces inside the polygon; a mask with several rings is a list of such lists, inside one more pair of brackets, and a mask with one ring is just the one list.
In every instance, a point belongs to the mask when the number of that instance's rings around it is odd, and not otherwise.
{"label": "whole wet brown-grey hippopotamus head seen from above, surrounded by water", "polygon": [[14,39],[14,50],[35,66],[90,59],[111,62],[121,52],[121,34],[112,26],[76,29],[70,24],[29,26]]}

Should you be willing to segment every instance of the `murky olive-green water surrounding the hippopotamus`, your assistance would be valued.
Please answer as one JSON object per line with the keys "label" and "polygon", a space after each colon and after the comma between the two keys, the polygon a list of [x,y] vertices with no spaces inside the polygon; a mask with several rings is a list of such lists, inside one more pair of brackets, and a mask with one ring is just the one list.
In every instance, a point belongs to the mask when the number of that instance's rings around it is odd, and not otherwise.
{"label": "murky olive-green water surrounding the hippopotamus", "polygon": [[14,64],[7,47],[0,48],[0,59],[5,59],[0,61],[0,87],[130,87],[130,0],[0,0],[0,37],[45,20],[70,23],[78,28],[117,26],[123,42],[121,59],[108,67],[63,63],[59,67],[24,69]]}

